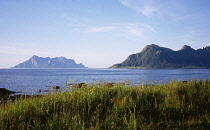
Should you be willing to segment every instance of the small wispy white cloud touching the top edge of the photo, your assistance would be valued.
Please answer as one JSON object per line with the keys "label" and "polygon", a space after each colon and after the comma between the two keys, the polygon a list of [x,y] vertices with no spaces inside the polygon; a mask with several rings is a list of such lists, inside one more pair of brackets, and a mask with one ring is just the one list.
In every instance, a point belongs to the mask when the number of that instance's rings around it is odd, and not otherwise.
{"label": "small wispy white cloud touching the top edge of the photo", "polygon": [[119,2],[147,17],[151,17],[156,12],[156,8],[146,0],[119,0]]}

